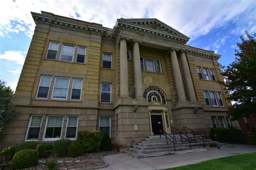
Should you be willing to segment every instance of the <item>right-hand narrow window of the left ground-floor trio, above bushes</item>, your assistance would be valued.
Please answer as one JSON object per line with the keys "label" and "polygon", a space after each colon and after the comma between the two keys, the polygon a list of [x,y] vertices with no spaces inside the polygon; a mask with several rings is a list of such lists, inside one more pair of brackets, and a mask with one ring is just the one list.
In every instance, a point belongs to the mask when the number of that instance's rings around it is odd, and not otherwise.
{"label": "right-hand narrow window of the left ground-floor trio, above bushes", "polygon": [[65,139],[77,138],[77,123],[78,123],[78,116],[68,116],[68,120],[66,123]]}

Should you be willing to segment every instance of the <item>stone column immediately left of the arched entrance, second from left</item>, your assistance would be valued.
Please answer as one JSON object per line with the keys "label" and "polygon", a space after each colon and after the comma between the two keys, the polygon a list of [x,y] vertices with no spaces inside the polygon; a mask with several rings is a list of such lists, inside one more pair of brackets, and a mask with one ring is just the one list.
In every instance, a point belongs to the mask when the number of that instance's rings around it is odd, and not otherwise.
{"label": "stone column immediately left of the arched entrance, second from left", "polygon": [[139,54],[138,41],[135,41],[133,43],[133,69],[134,69],[135,98],[143,97],[142,70],[140,69],[140,54]]}

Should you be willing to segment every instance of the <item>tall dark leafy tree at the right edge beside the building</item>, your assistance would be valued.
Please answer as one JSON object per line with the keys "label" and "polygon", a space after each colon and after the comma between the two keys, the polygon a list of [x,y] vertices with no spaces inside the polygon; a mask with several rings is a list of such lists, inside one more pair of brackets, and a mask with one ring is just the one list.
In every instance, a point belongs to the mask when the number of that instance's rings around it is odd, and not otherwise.
{"label": "tall dark leafy tree at the right edge beside the building", "polygon": [[241,42],[237,43],[235,61],[224,67],[223,72],[230,94],[228,100],[235,102],[230,108],[233,120],[256,114],[256,33],[251,36],[246,31],[245,34],[246,38],[241,36]]}

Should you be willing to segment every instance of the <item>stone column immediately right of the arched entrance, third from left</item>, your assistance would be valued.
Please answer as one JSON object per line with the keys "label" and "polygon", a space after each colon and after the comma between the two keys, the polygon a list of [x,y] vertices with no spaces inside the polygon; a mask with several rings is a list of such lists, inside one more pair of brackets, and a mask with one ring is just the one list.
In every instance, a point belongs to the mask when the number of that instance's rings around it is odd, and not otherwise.
{"label": "stone column immediately right of the arched entrance, third from left", "polygon": [[176,55],[176,51],[171,49],[171,61],[172,61],[172,70],[178,95],[178,101],[186,101],[185,91],[183,87],[182,77],[179,69],[179,63]]}

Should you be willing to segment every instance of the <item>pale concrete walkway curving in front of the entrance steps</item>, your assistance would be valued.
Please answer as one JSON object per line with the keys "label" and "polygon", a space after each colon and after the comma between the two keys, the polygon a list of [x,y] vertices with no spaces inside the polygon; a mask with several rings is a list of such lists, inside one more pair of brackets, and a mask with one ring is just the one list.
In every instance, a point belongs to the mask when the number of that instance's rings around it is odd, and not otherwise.
{"label": "pale concrete walkway curving in front of the entrance steps", "polygon": [[256,152],[256,145],[227,144],[219,150],[166,155],[163,157],[152,157],[136,159],[125,153],[107,155],[104,157],[109,166],[102,168],[110,169],[165,169],[188,164],[196,164],[215,158],[228,157],[242,153]]}

